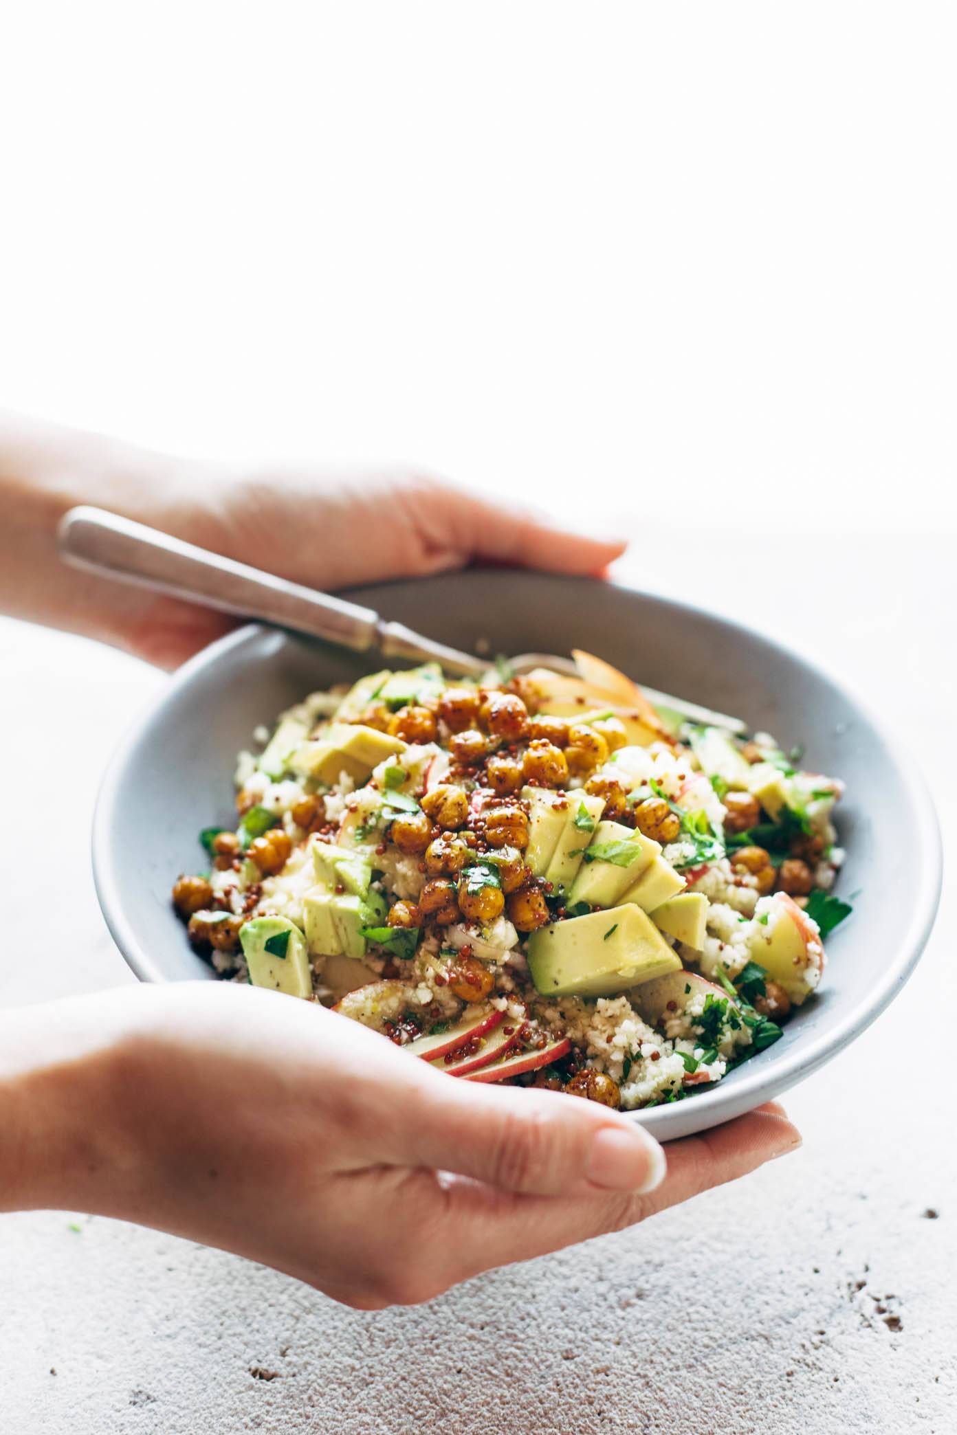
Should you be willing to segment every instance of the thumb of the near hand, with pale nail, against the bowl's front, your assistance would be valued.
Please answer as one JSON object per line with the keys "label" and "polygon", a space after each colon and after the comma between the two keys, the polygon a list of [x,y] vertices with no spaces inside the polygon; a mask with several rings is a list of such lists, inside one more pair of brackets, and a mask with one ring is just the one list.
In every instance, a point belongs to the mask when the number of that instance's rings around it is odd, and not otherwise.
{"label": "thumb of the near hand, with pale nail, against the bowl's front", "polygon": [[416,1072],[392,1131],[396,1164],[472,1177],[534,1195],[583,1190],[646,1194],[664,1152],[633,1118],[560,1092],[489,1086]]}

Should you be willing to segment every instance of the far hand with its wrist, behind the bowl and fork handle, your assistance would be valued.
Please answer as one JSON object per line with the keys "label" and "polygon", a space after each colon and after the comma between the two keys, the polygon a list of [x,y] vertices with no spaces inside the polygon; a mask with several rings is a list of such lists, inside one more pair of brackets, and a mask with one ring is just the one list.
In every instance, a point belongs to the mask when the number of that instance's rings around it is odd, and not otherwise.
{"label": "far hand with its wrist, behind the bowl and fork handle", "polygon": [[66,568],[56,525],[80,502],[326,590],[472,560],[598,574],[624,550],[409,471],[238,472],[0,415],[0,507],[10,518],[0,531],[0,611],[70,627],[164,667],[231,620]]}

